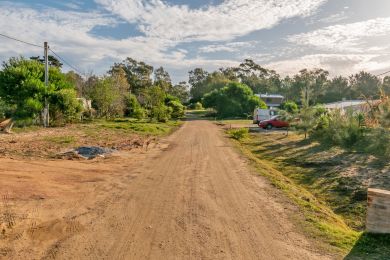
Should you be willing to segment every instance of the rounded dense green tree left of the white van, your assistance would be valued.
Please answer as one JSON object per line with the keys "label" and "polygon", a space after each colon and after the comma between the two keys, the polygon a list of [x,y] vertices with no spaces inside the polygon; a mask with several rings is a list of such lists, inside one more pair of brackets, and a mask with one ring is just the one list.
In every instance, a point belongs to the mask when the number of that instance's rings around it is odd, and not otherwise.
{"label": "rounded dense green tree left of the white van", "polygon": [[237,82],[206,94],[202,103],[206,108],[215,109],[220,118],[243,117],[256,107],[266,108],[265,103],[254,96],[248,86]]}

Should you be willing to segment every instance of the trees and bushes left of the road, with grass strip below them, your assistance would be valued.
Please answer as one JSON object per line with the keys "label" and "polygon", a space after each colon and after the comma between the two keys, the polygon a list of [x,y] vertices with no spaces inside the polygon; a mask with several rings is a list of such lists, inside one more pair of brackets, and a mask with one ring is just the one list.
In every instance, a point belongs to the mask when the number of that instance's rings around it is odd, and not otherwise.
{"label": "trees and bushes left of the road, with grass strip below them", "polygon": [[[3,63],[0,130],[48,134],[38,141],[53,143],[59,149],[84,143],[81,140],[88,140],[85,145],[97,143],[93,138],[81,138],[81,132],[94,138],[103,134],[108,138],[106,141],[110,139],[109,132],[122,138],[126,134],[167,134],[184,117],[188,87],[185,83],[174,85],[162,67],[154,69],[127,58],[114,64],[103,76],[83,77],[73,71],[62,72],[62,64],[55,57],[49,60],[48,87],[44,84],[44,65],[39,57],[11,58]],[[41,129],[46,102],[51,128],[61,129],[65,136]],[[75,131],[75,135],[64,130],[64,126]],[[15,138],[3,136],[0,142],[8,139]],[[2,152],[12,153],[12,148],[4,145]]]}

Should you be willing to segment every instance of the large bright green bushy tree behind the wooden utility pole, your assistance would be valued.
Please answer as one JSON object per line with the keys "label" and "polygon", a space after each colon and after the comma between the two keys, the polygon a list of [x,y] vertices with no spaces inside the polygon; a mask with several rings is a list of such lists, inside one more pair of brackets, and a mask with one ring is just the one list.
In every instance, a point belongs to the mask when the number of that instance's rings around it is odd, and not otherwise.
{"label": "large bright green bushy tree behind the wooden utility pole", "polygon": [[[44,66],[36,60],[11,58],[3,63],[0,71],[0,97],[12,107],[12,117],[30,121],[39,118],[45,99],[50,103],[50,113],[63,120],[74,119],[79,112],[73,93],[74,86],[68,82],[58,67],[49,70],[49,86],[44,84]],[[56,120],[59,116],[54,116]]]}

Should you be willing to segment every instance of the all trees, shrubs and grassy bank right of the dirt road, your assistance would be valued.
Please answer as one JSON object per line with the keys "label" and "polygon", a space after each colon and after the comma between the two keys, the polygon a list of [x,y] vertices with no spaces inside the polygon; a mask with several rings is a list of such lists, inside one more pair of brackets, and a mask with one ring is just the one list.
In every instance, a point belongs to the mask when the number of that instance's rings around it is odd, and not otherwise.
{"label": "all trees, shrubs and grassy bank right of the dirt road", "polygon": [[[367,188],[390,190],[389,76],[362,71],[330,78],[325,70],[304,69],[282,78],[245,60],[212,73],[195,69],[190,85],[191,102],[212,109],[259,172],[301,208],[309,234],[348,259],[389,255],[388,235],[364,232]],[[246,91],[225,94],[232,86]],[[248,98],[241,97],[244,92]],[[285,97],[278,114],[289,123],[287,131],[248,133],[253,128],[247,119],[254,108],[264,107],[263,101],[247,102],[256,99],[254,93]],[[343,98],[364,104],[332,110],[322,105]]]}

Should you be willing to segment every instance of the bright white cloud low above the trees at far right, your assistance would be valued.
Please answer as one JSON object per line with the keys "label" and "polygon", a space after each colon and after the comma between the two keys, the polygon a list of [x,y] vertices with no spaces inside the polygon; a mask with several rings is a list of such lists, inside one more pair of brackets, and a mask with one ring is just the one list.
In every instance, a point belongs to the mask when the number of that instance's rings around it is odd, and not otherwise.
{"label": "bright white cloud low above the trees at far right", "polygon": [[381,72],[390,67],[390,17],[332,25],[289,36],[287,41],[319,53],[270,64],[285,73],[319,67],[334,75],[348,75],[361,70]]}

